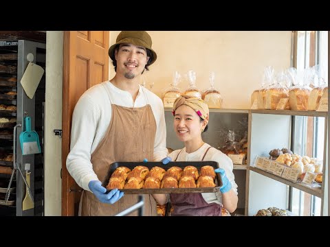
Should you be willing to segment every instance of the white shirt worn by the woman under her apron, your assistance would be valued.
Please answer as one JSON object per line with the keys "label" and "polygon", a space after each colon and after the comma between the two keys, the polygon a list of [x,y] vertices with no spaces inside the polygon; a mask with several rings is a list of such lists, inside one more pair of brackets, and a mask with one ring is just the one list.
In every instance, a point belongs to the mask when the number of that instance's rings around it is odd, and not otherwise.
{"label": "white shirt worn by the woman under her apron", "polygon": [[[201,161],[203,158],[206,150],[210,147],[208,143],[204,143],[201,148],[196,150],[195,152],[192,152],[188,154],[186,152],[186,148],[184,150],[175,150],[171,152],[168,156],[172,158],[172,161],[175,161],[175,158],[177,158],[177,154],[179,154],[177,161]],[[235,177],[234,173],[232,172],[232,169],[234,165],[232,164],[232,160],[223,152],[220,150],[217,150],[216,148],[210,148],[208,150],[208,153],[206,154],[204,161],[217,161],[219,163],[219,167],[225,170],[225,175],[227,176],[228,180],[232,184],[232,189],[234,189],[236,195],[237,195],[237,185],[235,183]],[[216,193],[201,193],[201,196],[203,196],[204,200],[208,203],[218,203],[222,204],[222,193],[216,192]]]}

